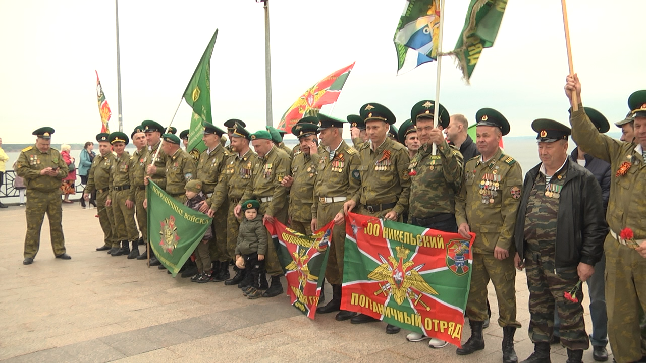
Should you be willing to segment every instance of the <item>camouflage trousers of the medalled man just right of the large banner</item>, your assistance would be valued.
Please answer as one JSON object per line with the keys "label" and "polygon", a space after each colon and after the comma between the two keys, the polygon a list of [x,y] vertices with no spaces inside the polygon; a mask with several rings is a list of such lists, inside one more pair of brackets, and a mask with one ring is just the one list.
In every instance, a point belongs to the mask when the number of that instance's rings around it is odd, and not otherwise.
{"label": "camouflage trousers of the medalled man just right of the large banner", "polygon": [[469,320],[485,321],[487,313],[487,285],[494,283],[498,299],[498,325],[521,327],[516,320],[516,268],[514,258],[498,260],[494,254],[474,253],[473,270],[469,298],[466,303],[466,316]]}

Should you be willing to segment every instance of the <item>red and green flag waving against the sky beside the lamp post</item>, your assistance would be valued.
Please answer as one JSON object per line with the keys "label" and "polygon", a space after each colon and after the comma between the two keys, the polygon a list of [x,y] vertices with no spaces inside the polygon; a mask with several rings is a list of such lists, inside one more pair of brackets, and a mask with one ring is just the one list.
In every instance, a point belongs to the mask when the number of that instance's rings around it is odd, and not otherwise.
{"label": "red and green flag waving against the sky beside the lamp post", "polygon": [[291,128],[302,119],[304,114],[309,110],[320,110],[323,105],[335,103],[341,93],[341,88],[346,83],[355,62],[347,67],[343,67],[324,79],[318,81],[312,87],[309,87],[302,96],[300,96],[289,109],[285,111],[280,122],[278,130],[291,132]]}

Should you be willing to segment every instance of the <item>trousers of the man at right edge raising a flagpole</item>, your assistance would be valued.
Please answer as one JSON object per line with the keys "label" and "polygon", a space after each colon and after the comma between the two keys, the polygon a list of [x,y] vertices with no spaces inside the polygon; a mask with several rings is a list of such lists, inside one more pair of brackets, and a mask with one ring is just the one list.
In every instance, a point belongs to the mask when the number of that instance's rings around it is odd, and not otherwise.
{"label": "trousers of the man at right edge raising a flagpole", "polygon": [[608,234],[605,296],[608,338],[617,363],[636,362],[643,355],[640,309],[646,310],[646,258]]}

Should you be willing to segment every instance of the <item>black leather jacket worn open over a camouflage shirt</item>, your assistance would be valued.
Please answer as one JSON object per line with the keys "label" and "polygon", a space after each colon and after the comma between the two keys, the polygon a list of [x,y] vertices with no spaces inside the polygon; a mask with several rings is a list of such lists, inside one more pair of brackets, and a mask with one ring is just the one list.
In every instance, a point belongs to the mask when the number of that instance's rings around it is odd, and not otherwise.
{"label": "black leather jacket worn open over a camouflage shirt", "polygon": [[[539,173],[541,164],[527,172],[523,183],[521,205],[516,217],[516,249],[521,260],[525,258],[525,214],[530,191]],[[603,240],[608,234],[608,225],[603,213],[601,187],[591,172],[568,160],[556,178],[567,168],[556,225],[556,267],[576,267],[579,262],[594,266],[603,254]]]}

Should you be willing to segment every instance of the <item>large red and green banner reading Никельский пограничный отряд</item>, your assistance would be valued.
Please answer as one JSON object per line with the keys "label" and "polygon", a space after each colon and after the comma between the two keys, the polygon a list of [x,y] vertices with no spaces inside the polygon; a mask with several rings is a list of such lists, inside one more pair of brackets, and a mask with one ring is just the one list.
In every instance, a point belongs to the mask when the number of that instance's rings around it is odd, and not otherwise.
{"label": "large red and green banner reading \u041d\u0438\u043a\u0435\u043b\u044c\u0441\u043a\u0438\u0439 \u043f\u043e\u0433\u0440\u0430\u043d\u0438\u0447\u043d\u044b\u0439 \u043e\u0442\u0440\u044f\u0434", "polygon": [[341,309],[461,347],[474,239],[349,213]]}

